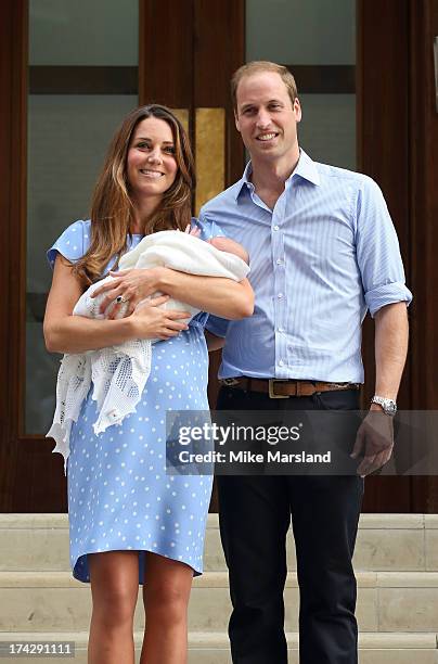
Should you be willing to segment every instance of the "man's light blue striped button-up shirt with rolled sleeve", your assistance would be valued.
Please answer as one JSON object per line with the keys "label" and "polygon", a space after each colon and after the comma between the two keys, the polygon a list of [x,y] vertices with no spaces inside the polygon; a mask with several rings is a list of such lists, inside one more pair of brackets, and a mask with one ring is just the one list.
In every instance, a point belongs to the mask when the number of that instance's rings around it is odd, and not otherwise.
{"label": "man's light blue striped button-up shirt with rolled sleeve", "polygon": [[301,150],[271,210],[249,175],[250,163],[199,215],[248,251],[256,294],[252,318],[208,319],[207,329],[226,337],[219,378],[363,382],[366,310],[412,299],[382,191]]}

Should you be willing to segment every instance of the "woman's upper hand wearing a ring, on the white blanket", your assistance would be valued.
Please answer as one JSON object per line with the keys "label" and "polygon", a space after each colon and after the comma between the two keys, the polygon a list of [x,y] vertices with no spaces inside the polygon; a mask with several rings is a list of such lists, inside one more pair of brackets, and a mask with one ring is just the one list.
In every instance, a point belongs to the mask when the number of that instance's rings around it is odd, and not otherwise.
{"label": "woman's upper hand wearing a ring, on the white blanket", "polygon": [[[102,293],[106,295],[99,310],[101,314],[106,311],[110,319],[116,318],[121,305],[126,303],[128,306],[125,316],[130,316],[139,302],[159,291],[160,276],[164,269],[166,268],[132,268],[110,272],[113,281],[96,289],[91,297],[96,297]],[[123,299],[117,303],[117,297]]]}

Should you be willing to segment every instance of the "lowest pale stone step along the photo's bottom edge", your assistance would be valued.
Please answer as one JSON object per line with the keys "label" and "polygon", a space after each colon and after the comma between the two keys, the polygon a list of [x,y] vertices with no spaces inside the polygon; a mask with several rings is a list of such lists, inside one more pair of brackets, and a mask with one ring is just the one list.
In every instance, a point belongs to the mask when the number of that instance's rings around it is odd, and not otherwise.
{"label": "lowest pale stone step along the photo's bottom edge", "polygon": [[[139,662],[142,631],[136,631],[136,662]],[[88,633],[0,633],[0,641],[15,642],[75,642],[75,664],[87,664]],[[289,664],[298,664],[298,635],[287,634]],[[42,661],[48,661],[42,659]],[[52,664],[65,664],[69,657],[50,657]],[[20,657],[31,664],[35,657]],[[437,634],[362,634],[359,636],[360,664],[437,664]],[[190,633],[189,664],[231,664],[228,638],[224,633]]]}

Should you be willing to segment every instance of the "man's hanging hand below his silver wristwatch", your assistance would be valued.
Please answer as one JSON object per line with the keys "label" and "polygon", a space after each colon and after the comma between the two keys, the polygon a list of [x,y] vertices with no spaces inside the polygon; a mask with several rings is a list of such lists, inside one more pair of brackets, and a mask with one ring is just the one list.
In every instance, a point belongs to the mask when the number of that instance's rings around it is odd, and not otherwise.
{"label": "man's hanging hand below his silver wristwatch", "polygon": [[361,477],[375,472],[391,457],[394,448],[392,418],[383,412],[377,406],[373,406],[363,420],[356,436],[356,443],[351,457],[357,459],[363,455],[357,473]]}

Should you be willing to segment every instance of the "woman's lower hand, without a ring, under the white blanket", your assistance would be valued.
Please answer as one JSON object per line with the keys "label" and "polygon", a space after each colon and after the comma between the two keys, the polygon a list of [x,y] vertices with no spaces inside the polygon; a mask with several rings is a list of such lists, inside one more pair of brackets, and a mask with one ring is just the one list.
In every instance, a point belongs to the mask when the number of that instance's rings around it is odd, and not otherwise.
{"label": "woman's lower hand, without a ring, under the white blanket", "polygon": [[137,339],[167,340],[177,336],[182,330],[188,330],[189,311],[162,309],[160,305],[169,299],[168,295],[152,297],[137,305],[129,317],[134,325]]}

